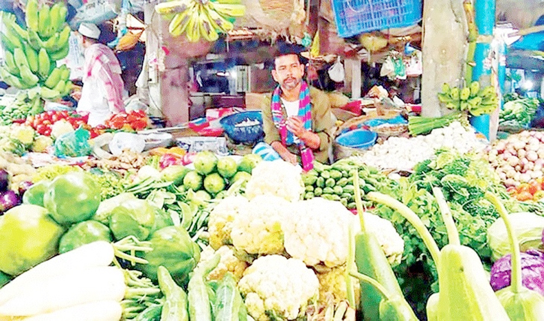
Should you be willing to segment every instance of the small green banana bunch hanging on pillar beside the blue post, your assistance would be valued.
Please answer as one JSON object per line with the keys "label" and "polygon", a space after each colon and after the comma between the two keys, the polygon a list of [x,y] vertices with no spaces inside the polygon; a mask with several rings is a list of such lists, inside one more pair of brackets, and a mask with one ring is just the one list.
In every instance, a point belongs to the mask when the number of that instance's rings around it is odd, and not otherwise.
{"label": "small green banana bunch hanging on pillar beside the blue post", "polygon": [[442,93],[438,93],[438,100],[445,104],[446,108],[468,111],[473,116],[490,114],[499,106],[495,88],[487,86],[480,89],[477,81],[463,88],[451,88],[449,84],[443,84]]}

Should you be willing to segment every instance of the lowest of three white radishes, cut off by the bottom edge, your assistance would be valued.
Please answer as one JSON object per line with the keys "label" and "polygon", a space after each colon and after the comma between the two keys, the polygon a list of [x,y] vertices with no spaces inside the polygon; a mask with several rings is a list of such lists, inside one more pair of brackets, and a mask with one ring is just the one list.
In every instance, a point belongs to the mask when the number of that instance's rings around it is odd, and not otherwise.
{"label": "lowest of three white radishes, cut off by the bottom edge", "polygon": [[24,321],[119,321],[122,307],[115,301],[98,301],[75,305],[51,313],[38,314]]}

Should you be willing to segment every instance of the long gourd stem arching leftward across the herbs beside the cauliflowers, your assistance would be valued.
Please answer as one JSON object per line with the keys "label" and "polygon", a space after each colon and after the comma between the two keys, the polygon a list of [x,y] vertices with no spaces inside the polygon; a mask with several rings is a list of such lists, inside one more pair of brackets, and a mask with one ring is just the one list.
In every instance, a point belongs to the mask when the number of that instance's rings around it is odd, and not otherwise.
{"label": "long gourd stem arching leftward across the herbs beside the cauliflowers", "polygon": [[413,213],[413,211],[409,209],[408,206],[392,198],[389,195],[384,195],[378,192],[370,192],[367,194],[367,199],[371,200],[372,202],[377,202],[377,203],[381,203],[386,206],[389,206],[390,208],[397,211],[397,213],[405,217],[405,219],[407,219],[407,221],[410,222],[410,224],[412,224],[413,228],[416,229],[416,231],[422,238],[423,243],[425,244],[425,246],[427,246],[427,249],[431,253],[431,257],[433,257],[433,261],[435,261],[435,265],[438,266],[439,264],[438,258],[440,257],[440,249],[438,248],[436,241],[433,239],[433,236],[431,235],[427,227],[425,227],[420,217],[416,215],[416,213]]}

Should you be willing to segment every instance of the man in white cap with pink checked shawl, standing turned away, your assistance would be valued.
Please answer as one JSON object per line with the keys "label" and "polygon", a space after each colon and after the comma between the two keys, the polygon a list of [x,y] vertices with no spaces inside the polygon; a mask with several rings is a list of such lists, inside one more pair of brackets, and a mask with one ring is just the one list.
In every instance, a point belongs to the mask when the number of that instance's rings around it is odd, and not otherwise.
{"label": "man in white cap with pink checked shawl, standing turned away", "polygon": [[98,126],[111,115],[124,111],[121,66],[113,51],[98,41],[100,29],[96,25],[81,23],[78,32],[85,61],[77,111],[88,112],[89,125]]}

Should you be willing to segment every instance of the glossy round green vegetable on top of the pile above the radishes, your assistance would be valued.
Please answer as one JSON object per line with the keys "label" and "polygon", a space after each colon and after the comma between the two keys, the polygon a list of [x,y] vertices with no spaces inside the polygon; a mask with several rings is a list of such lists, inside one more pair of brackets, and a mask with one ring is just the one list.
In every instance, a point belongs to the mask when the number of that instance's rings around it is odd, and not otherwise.
{"label": "glossy round green vegetable on top of the pile above the radishes", "polygon": [[73,171],[51,182],[43,204],[58,224],[82,222],[98,209],[100,187],[84,171]]}

